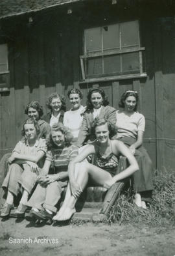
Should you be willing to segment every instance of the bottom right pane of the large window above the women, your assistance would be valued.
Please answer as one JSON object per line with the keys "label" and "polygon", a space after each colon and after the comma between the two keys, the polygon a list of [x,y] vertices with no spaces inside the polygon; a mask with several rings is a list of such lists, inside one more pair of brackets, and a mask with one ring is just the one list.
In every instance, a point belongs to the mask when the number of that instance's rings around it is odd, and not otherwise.
{"label": "bottom right pane of the large window above the women", "polygon": [[126,53],[122,55],[123,72],[139,72],[139,53]]}

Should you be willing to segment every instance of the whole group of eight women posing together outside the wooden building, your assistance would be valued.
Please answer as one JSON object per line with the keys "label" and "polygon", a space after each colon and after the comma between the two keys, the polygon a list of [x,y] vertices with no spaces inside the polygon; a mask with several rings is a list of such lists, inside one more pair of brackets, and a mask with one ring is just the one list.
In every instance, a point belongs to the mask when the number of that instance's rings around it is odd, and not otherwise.
{"label": "whole group of eight women posing together outside the wooden building", "polygon": [[[10,215],[14,198],[21,193],[16,216],[23,216],[30,206],[30,216],[38,220],[69,220],[88,181],[108,190],[131,175],[135,205],[146,208],[150,203],[152,162],[143,147],[145,117],[137,112],[138,93],[124,92],[117,111],[100,88],[89,90],[86,107],[81,105],[80,90],[72,89],[68,97],[69,111],[65,111],[65,97],[57,93],[47,98],[46,115],[39,102],[27,105],[23,137],[0,162],[6,197],[1,218]],[[116,174],[121,155],[126,156],[128,167]]]}

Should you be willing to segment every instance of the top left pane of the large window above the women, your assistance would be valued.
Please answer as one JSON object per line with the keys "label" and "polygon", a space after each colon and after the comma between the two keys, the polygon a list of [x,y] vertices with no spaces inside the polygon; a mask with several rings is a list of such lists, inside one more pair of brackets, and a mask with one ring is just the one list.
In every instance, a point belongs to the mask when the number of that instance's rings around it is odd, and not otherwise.
{"label": "top left pane of the large window above the women", "polygon": [[86,29],[85,31],[86,48],[85,52],[88,51],[101,51],[102,50],[102,38],[100,27],[93,29]]}

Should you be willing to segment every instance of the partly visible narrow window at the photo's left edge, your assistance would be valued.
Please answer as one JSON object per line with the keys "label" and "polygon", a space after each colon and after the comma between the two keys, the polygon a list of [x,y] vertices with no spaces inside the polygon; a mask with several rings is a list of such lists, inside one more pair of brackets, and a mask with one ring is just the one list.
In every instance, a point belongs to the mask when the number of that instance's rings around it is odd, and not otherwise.
{"label": "partly visible narrow window at the photo's left edge", "polygon": [[9,91],[8,48],[0,44],[0,92]]}

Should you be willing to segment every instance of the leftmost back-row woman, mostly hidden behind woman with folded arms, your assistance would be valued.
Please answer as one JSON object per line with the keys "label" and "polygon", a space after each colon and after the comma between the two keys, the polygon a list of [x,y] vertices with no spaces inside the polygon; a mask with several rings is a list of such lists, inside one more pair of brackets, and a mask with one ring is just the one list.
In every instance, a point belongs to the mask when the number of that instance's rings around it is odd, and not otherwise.
{"label": "leftmost back-row woman, mostly hidden behind woman with folded arms", "polygon": [[[27,104],[25,108],[25,114],[28,115],[29,118],[34,118],[39,126],[40,126],[40,134],[38,134],[38,137],[41,137],[45,139],[47,134],[51,131],[51,126],[45,121],[41,119],[43,115],[43,107],[40,105],[38,101],[32,101],[29,104]],[[0,162],[0,186],[3,183],[3,180],[6,176],[6,173],[8,171],[8,158],[10,158],[12,153],[7,153],[1,158]]]}

